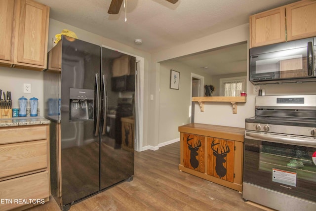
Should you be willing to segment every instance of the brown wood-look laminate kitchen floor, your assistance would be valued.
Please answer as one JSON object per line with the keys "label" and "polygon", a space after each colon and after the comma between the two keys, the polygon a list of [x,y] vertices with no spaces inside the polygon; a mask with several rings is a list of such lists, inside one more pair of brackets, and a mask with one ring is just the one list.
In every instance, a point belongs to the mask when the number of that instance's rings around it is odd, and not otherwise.
{"label": "brown wood-look laminate kitchen floor", "polygon": [[[179,171],[180,142],[135,152],[135,175],[70,211],[262,211],[233,189]],[[53,197],[28,211],[58,211]]]}

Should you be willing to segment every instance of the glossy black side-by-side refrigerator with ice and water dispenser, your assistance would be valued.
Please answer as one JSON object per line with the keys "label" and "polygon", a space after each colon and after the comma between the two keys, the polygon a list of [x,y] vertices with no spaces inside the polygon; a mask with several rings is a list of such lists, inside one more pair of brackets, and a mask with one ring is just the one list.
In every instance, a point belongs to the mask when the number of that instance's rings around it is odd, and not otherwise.
{"label": "glossy black side-by-side refrigerator with ice and water dispenser", "polygon": [[[62,210],[134,174],[135,57],[62,36],[48,52],[44,116],[51,194]],[[127,144],[127,145],[126,145]],[[134,145],[133,145],[134,146]]]}

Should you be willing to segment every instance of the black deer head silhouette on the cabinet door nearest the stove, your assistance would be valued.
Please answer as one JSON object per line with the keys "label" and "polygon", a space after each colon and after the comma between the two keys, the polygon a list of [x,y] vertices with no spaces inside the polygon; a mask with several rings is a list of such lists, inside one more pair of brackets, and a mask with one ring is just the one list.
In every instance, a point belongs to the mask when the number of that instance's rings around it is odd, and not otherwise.
{"label": "black deer head silhouette on the cabinet door nearest the stove", "polygon": [[223,164],[226,162],[225,157],[230,152],[230,150],[229,150],[228,145],[226,145],[223,148],[217,148],[217,150],[215,150],[214,146],[220,143],[215,144],[214,142],[215,140],[212,141],[211,149],[213,150],[213,155],[216,157],[215,170],[216,170],[217,175],[219,175],[219,177],[222,178],[227,173],[227,169],[225,169]]}

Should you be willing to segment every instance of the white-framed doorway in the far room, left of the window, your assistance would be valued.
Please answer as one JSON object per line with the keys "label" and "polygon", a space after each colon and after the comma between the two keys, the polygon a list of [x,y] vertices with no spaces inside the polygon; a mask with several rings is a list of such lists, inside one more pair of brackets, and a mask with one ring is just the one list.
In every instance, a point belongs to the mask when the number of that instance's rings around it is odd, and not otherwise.
{"label": "white-framed doorway in the far room, left of the window", "polygon": [[204,76],[191,73],[191,111],[190,111],[190,123],[194,123],[195,103],[192,101],[192,97],[204,96]]}

